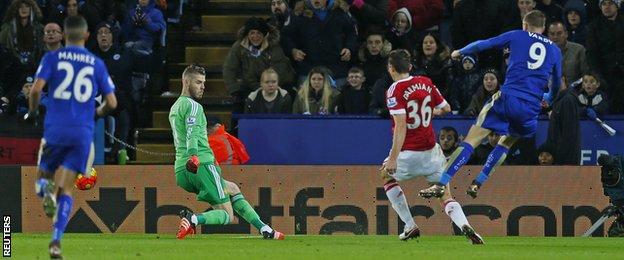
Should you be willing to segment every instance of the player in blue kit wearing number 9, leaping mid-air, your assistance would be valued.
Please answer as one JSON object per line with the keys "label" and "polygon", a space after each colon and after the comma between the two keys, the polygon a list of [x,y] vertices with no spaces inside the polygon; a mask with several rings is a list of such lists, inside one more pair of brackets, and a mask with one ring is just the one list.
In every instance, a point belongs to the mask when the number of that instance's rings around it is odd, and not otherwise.
{"label": "player in blue kit wearing number 9, leaping mid-air", "polygon": [[[475,147],[490,132],[503,135],[489,154],[479,176],[472,181],[466,193],[475,198],[490,173],[503,163],[509,148],[520,138],[535,134],[542,100],[548,103],[561,86],[561,51],[552,41],[542,35],[546,17],[540,11],[527,13],[522,20],[523,30],[514,30],[499,36],[473,42],[461,50],[453,51],[451,57],[483,50],[509,47],[511,56],[505,83],[500,91],[485,104],[468,136],[456,148],[446,165],[439,183],[421,190],[424,198],[440,197],[453,175],[470,159]],[[551,80],[551,81],[550,81]],[[549,81],[551,83],[548,90]]]}

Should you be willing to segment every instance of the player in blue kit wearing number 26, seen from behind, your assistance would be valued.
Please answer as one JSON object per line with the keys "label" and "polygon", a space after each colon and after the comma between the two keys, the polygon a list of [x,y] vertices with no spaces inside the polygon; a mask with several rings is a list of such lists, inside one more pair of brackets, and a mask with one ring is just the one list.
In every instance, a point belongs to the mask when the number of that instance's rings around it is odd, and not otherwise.
{"label": "player in blue kit wearing number 26, seen from behind", "polygon": [[[94,116],[103,116],[117,106],[115,86],[104,62],[84,48],[87,22],[81,16],[65,19],[66,47],[47,53],[37,69],[25,120],[38,116],[39,97],[48,85],[49,102],[39,150],[39,179],[35,190],[43,198],[43,209],[54,217],[50,258],[59,259],[61,237],[69,221],[76,175],[86,173],[93,163]],[[95,108],[95,96],[104,102]],[[95,110],[95,111],[94,111]],[[60,168],[58,188],[54,173]]]}

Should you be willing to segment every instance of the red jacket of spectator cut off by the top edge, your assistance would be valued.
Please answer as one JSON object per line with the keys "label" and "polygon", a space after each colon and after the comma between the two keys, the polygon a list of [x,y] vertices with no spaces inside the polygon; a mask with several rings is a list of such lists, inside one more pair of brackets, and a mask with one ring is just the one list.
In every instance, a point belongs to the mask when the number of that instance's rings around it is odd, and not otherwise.
{"label": "red jacket of spectator cut off by the top edge", "polygon": [[[438,25],[442,22],[444,14],[442,0],[390,0],[388,16],[394,16],[401,8],[406,8],[412,15],[410,21],[413,30],[417,32],[438,31]],[[413,48],[413,46],[410,47]]]}

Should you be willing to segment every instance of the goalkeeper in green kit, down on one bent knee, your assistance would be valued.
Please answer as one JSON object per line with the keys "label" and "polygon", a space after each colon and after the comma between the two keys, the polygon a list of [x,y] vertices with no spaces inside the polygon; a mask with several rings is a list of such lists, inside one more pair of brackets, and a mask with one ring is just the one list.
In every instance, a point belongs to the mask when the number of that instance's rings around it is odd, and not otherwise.
{"label": "goalkeeper in green kit, down on one bent knee", "polygon": [[182,74],[182,94],[169,111],[169,123],[176,148],[176,184],[197,194],[197,200],[208,202],[213,210],[193,214],[180,212],[177,237],[183,239],[195,233],[197,225],[227,225],[233,223],[234,211],[257,228],[266,239],[284,239],[284,234],[264,224],[245,200],[239,187],[221,177],[212,150],[208,146],[206,116],[197,101],[204,93],[204,68],[191,65]]}

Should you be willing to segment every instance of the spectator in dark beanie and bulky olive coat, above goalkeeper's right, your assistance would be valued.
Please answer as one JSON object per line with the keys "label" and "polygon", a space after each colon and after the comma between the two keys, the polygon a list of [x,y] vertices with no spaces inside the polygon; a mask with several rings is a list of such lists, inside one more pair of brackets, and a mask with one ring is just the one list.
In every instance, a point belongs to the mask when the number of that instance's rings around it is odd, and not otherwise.
{"label": "spectator in dark beanie and bulky olive coat, above goalkeeper's right", "polygon": [[265,69],[277,71],[281,86],[289,88],[295,83],[295,72],[279,45],[279,38],[277,29],[260,18],[250,18],[239,30],[238,40],[223,64],[223,79],[240,108],[249,93],[260,88],[260,76]]}

